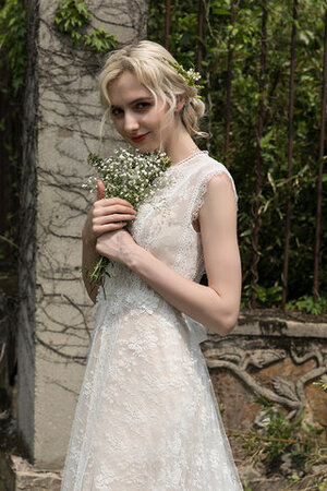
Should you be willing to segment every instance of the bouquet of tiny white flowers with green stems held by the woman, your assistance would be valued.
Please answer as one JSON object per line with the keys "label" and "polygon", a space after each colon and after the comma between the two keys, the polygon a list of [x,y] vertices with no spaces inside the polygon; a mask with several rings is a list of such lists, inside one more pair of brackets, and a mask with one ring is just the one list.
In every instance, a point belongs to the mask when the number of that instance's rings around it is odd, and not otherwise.
{"label": "bouquet of tiny white flowers with green stems held by the woman", "polygon": [[[114,155],[100,158],[89,154],[87,161],[99,177],[90,177],[82,188],[93,191],[100,179],[105,184],[105,197],[121,197],[131,203],[135,211],[140,204],[156,191],[157,178],[171,165],[170,158],[159,152],[142,154],[138,151],[117,149]],[[94,271],[87,272],[89,280],[102,285],[109,259],[100,256]]]}

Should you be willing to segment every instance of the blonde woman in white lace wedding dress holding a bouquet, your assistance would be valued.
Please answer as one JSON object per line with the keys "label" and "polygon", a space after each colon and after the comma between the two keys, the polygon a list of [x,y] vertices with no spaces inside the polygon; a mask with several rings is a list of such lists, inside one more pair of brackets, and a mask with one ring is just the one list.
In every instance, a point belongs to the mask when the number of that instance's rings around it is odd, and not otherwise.
{"label": "blonde woman in white lace wedding dress holding a bouquet", "polygon": [[[168,60],[142,41],[111,55],[99,79],[121,136],[141,152],[164,149],[172,166],[137,214],[104,199],[99,181],[83,229],[83,270],[98,254],[111,265],[104,289],[84,276],[97,321],[66,491],[242,489],[198,345],[205,330],[189,322],[222,336],[237,322],[237,194],[228,170],[194,143],[204,105]],[[208,286],[198,284],[204,263]]]}

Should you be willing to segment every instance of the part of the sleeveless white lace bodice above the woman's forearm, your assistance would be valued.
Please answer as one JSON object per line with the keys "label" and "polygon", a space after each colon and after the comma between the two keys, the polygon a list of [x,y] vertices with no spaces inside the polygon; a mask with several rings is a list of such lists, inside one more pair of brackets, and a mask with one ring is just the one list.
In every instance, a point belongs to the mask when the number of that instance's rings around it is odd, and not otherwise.
{"label": "part of the sleeveless white lace bodice above the woman's forearm", "polygon": [[[136,242],[186,278],[198,280],[204,272],[201,235],[193,228],[206,187],[217,173],[230,173],[207,152],[170,167],[161,188],[138,211],[132,227]],[[233,180],[232,187],[235,193]]]}

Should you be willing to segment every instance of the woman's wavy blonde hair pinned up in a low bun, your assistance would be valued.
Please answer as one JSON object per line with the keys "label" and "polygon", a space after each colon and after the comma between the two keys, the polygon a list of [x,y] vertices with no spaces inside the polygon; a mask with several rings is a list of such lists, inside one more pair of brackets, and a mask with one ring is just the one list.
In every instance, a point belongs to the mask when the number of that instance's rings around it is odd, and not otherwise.
{"label": "woman's wavy blonde hair pinned up in a low bun", "polygon": [[184,127],[191,136],[206,137],[207,133],[198,130],[198,121],[204,115],[205,105],[197,97],[197,89],[187,85],[186,80],[165,61],[165,58],[175,61],[167,49],[149,40],[128,45],[110,53],[99,74],[101,103],[110,108],[109,84],[124,71],[130,71],[152,93],[156,105],[158,99],[162,100],[164,107],[167,105],[167,121],[174,113],[178,96],[184,96],[184,107],[180,111]]}

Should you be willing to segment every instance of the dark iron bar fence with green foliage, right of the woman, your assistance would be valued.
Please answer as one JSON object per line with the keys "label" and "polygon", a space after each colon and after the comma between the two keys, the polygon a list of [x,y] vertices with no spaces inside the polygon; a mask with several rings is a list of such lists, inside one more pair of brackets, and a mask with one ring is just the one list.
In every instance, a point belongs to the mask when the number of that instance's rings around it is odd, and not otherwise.
{"label": "dark iron bar fence with green foliage, right of the woman", "polygon": [[231,168],[242,197],[250,307],[326,296],[324,1],[153,1],[148,37],[183,64],[194,60],[205,80],[207,148]]}

